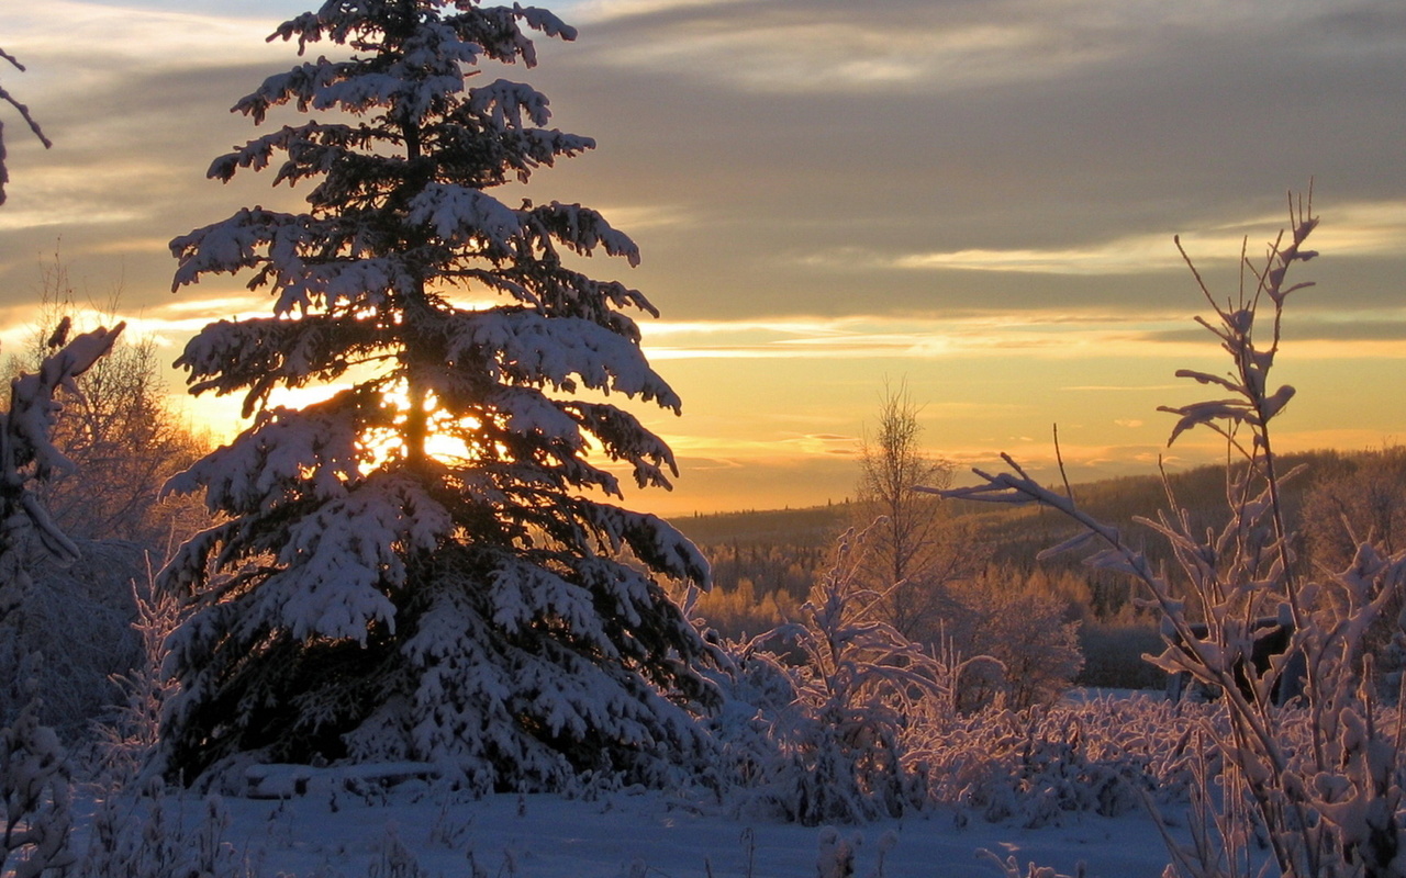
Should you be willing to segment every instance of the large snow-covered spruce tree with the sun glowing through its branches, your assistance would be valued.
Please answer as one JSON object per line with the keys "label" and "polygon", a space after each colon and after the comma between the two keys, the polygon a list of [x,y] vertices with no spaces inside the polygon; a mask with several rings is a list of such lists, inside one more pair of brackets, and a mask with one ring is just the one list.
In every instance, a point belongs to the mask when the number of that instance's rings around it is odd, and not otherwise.
{"label": "large snow-covered spruce tree with the sun glowing through its branches", "polygon": [[[679,410],[627,309],[637,291],[568,263],[638,260],[595,211],[485,190],[591,149],[543,128],[547,98],[485,62],[531,66],[547,11],[474,0],[330,0],[278,27],[318,58],[236,111],[328,111],[214,162],[281,155],[308,212],[242,209],[172,242],[174,287],[253,270],[273,315],[207,326],[191,392],[242,392],[253,424],[174,478],[228,517],[162,573],[197,604],[172,638],[180,684],[159,767],[194,781],[247,759],[422,760],[474,789],[592,773],[664,782],[707,746],[707,648],[657,582],[703,556],[619,494],[595,450],[668,486],[669,448],[621,393]],[[472,303],[471,303],[472,302]],[[484,303],[486,302],[486,303]],[[347,385],[301,410],[278,386]],[[444,445],[433,445],[443,441]],[[638,565],[624,563],[623,552]]]}

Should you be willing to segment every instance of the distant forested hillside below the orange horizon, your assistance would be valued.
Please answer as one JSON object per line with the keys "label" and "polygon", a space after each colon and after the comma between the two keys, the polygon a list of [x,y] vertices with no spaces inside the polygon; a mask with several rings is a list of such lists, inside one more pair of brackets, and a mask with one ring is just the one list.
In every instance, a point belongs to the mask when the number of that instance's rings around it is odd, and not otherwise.
{"label": "distant forested hillside below the orange horizon", "polygon": [[[1295,558],[1305,570],[1336,570],[1351,561],[1351,546],[1374,535],[1386,548],[1406,541],[1406,448],[1365,452],[1310,451],[1282,455],[1285,509],[1296,534]],[[1078,504],[1116,525],[1144,548],[1154,563],[1168,562],[1164,544],[1147,524],[1175,507],[1198,527],[1218,527],[1226,514],[1223,465],[1185,472],[1122,476],[1074,485]],[[1063,618],[1078,622],[1085,686],[1157,687],[1160,671],[1140,662],[1157,652],[1157,620],[1137,603],[1129,580],[1083,563],[1069,552],[1039,561],[1046,548],[1074,535],[1062,516],[1039,507],[1002,507],[943,500],[942,514],[962,549],[974,553],[973,576],[1012,596],[1040,594],[1063,604]],[[713,563],[714,591],[699,612],[723,635],[765,632],[794,617],[811,586],[834,563],[839,535],[862,528],[852,503],[810,509],[720,513],[679,518],[679,527]]]}

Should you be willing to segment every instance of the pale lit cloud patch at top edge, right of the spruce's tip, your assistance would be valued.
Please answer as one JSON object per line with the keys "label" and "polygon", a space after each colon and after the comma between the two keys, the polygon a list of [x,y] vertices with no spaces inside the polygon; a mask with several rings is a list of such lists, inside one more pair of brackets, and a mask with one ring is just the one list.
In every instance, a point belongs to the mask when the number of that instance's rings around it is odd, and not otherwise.
{"label": "pale lit cloud patch at top edge, right of the spruce's tip", "polygon": [[733,3],[603,0],[582,7],[617,45],[599,63],[697,72],[766,94],[946,93],[1099,69],[1215,24],[1175,4],[1099,1]]}

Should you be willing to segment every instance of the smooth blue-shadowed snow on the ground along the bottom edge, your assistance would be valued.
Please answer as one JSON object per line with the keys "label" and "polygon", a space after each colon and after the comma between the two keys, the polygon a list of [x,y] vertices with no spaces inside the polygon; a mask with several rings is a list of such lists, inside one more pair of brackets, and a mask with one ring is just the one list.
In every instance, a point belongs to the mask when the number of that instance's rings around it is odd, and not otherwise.
{"label": "smooth blue-shadowed snow on the ground along the bottom edge", "polygon": [[[191,837],[208,827],[211,799],[166,802],[167,833]],[[810,878],[820,874],[827,834],[827,827],[737,819],[717,804],[654,792],[444,804],[402,789],[380,802],[342,794],[224,798],[215,806],[228,819],[221,833],[226,867],[219,871],[267,877]],[[1000,878],[1002,871],[977,854],[981,848],[1002,860],[1014,856],[1021,875],[1031,861],[1069,875],[1084,863],[1087,875],[1105,878],[1156,877],[1167,863],[1156,826],[1139,812],[1070,813],[1059,826],[1021,829],[983,822],[959,827],[952,812],[936,811],[838,827],[838,834],[855,843],[853,874],[860,878]]]}

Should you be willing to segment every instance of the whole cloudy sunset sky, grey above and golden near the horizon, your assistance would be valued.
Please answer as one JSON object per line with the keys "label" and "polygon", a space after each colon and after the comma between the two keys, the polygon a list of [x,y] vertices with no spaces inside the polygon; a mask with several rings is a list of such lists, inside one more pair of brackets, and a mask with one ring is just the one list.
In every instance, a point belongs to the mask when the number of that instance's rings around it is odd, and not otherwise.
{"label": "whole cloudy sunset sky, grey above and golden near the horizon", "polygon": [[[270,177],[205,178],[260,133],[229,114],[298,62],[264,37],[307,0],[44,0],[0,6],[45,152],[7,122],[0,340],[34,320],[55,253],[83,302],[120,294],[170,360],[208,320],[266,313],[245,280],[170,291],[167,242],[242,207],[298,209]],[[541,170],[534,199],[631,235],[645,350],[682,417],[661,514],[853,493],[886,392],[921,407],[957,468],[1010,452],[1036,473],[1052,430],[1078,480],[1216,461],[1171,448],[1161,405],[1225,371],[1194,323],[1313,185],[1317,260],[1296,268],[1279,450],[1406,437],[1406,4],[1399,0],[574,0],[540,63],[495,70],[598,149]],[[280,119],[292,121],[291,117]],[[502,192],[513,204],[519,192]],[[173,389],[181,375],[170,375]],[[887,388],[887,391],[886,391]],[[229,406],[191,403],[217,433]]]}

